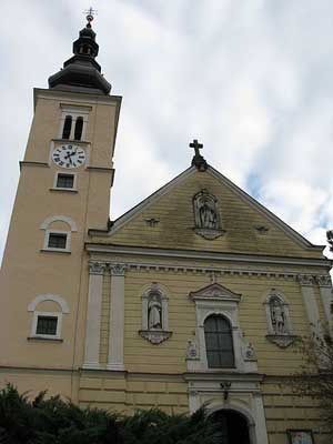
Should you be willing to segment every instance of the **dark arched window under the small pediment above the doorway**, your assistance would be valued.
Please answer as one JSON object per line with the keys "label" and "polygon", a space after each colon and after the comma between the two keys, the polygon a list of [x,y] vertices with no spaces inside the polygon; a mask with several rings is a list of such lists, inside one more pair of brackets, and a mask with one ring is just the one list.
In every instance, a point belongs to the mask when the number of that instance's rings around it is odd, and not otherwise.
{"label": "dark arched window under the small pediment above the doorway", "polygon": [[220,314],[204,321],[206,361],[210,369],[234,367],[232,329],[230,322]]}

